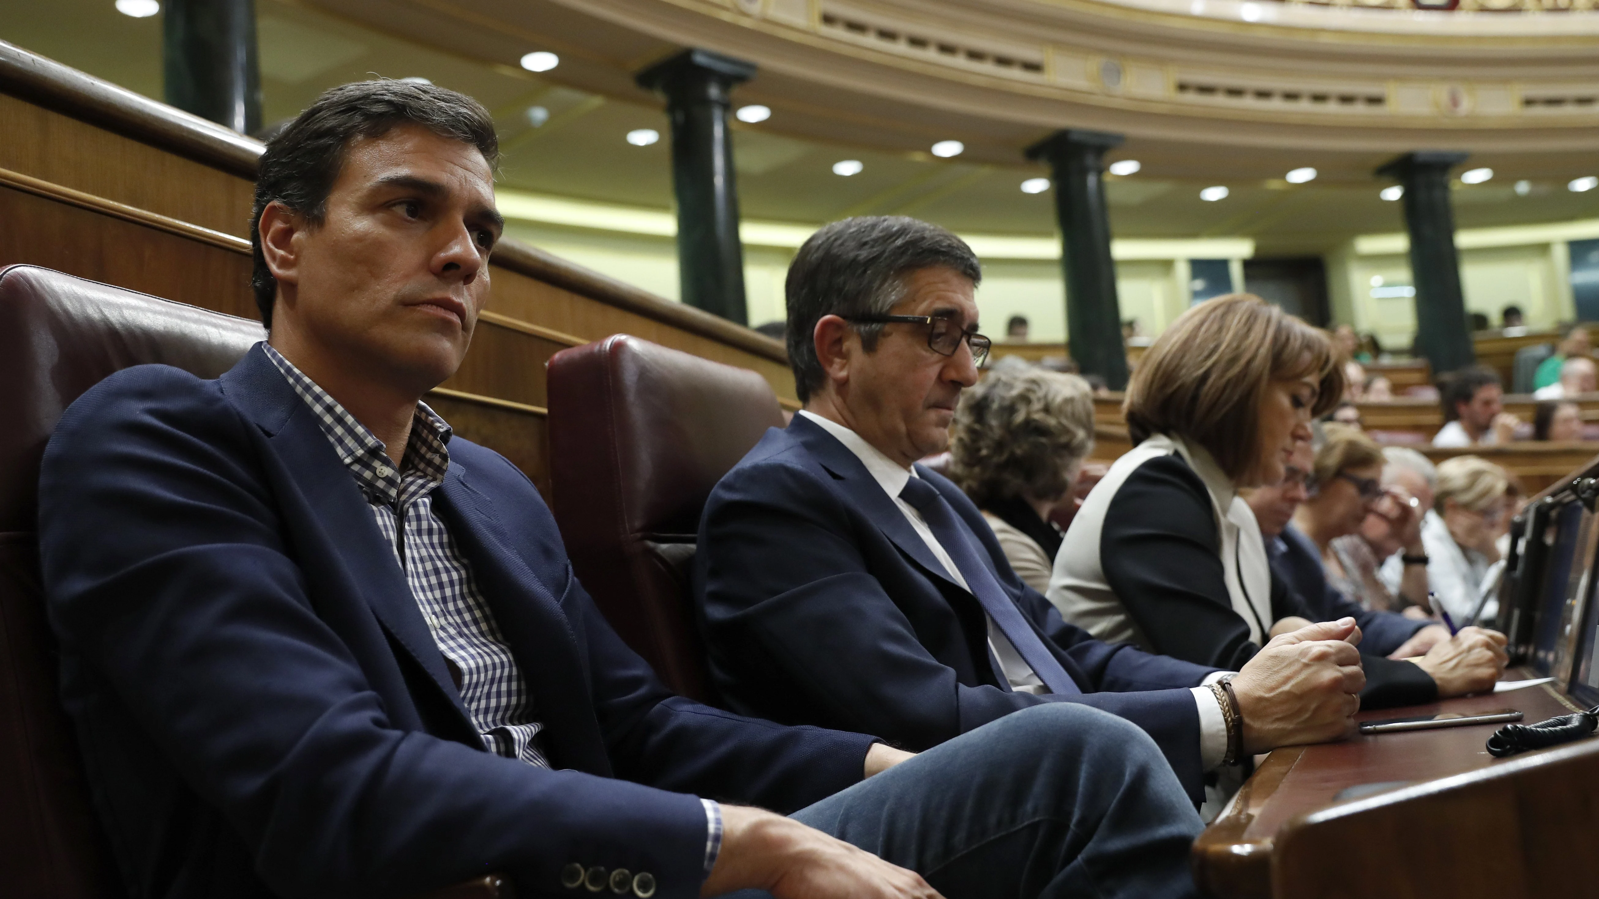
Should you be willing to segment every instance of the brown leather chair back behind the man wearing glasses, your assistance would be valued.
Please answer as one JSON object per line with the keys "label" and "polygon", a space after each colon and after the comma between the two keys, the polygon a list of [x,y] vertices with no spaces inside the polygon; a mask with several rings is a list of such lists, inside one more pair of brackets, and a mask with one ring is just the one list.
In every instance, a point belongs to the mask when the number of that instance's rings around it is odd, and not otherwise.
{"label": "brown leather chair back behind the man wearing glasses", "polygon": [[713,701],[689,599],[712,487],[768,428],[761,375],[617,334],[550,359],[550,492],[577,580],[675,691]]}

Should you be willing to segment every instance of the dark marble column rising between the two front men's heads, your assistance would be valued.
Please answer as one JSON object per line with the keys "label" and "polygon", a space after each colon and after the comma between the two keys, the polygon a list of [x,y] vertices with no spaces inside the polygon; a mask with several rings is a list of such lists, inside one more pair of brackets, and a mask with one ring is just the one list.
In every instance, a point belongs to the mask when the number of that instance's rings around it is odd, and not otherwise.
{"label": "dark marble column rising between the two front men's heads", "polygon": [[672,187],[678,200],[678,279],[683,302],[748,324],[739,190],[732,176],[728,109],[755,65],[707,50],[684,50],[638,73],[667,99]]}

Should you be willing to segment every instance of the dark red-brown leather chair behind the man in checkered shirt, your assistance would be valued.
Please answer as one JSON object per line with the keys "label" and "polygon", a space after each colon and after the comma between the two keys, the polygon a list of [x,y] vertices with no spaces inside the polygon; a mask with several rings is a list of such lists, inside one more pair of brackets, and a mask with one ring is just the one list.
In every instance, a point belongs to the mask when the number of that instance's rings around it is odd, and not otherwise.
{"label": "dark red-brown leather chair behind the man in checkered shirt", "polygon": [[[106,375],[163,362],[217,377],[261,323],[32,265],[0,270],[0,894],[122,896],[56,698],[38,580],[38,463],[61,412]],[[481,878],[435,896],[499,896]]]}

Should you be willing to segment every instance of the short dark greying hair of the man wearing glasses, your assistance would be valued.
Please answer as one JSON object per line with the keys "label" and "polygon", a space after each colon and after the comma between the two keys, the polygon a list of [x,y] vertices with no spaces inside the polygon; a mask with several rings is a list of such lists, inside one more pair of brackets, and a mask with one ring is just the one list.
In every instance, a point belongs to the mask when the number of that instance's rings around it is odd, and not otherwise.
{"label": "short dark greying hair of the man wearing glasses", "polygon": [[[788,265],[788,366],[801,402],[822,388],[825,374],[815,356],[815,323],[827,315],[884,315],[900,302],[905,275],[923,268],[953,268],[975,286],[982,265],[966,241],[907,216],[862,216],[822,227]],[[857,324],[868,353],[878,347],[881,324]]]}

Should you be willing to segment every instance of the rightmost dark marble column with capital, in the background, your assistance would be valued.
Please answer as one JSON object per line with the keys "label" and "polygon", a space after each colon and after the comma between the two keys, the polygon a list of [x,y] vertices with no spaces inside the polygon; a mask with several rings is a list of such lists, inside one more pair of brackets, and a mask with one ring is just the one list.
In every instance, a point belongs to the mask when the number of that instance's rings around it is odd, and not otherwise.
{"label": "rightmost dark marble column with capital, in the background", "polygon": [[1410,278],[1415,284],[1415,351],[1433,374],[1477,361],[1460,289],[1455,212],[1449,201],[1449,169],[1466,153],[1417,150],[1377,169],[1404,185],[1404,224],[1410,232]]}

